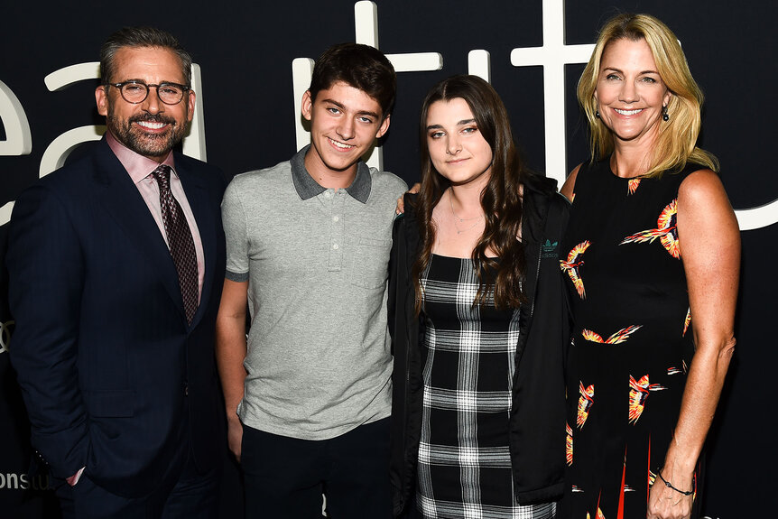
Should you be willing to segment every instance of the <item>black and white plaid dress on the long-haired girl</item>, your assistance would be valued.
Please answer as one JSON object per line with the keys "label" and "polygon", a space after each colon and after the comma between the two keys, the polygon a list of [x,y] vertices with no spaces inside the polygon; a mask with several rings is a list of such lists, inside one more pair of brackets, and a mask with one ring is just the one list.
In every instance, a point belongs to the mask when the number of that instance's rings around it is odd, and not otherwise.
{"label": "black and white plaid dress on the long-haired girl", "polygon": [[[551,519],[518,505],[508,418],[518,310],[474,307],[470,259],[432,255],[422,275],[426,333],[417,507],[423,517]],[[561,449],[561,447],[560,447]]]}

